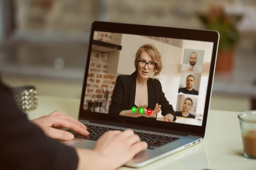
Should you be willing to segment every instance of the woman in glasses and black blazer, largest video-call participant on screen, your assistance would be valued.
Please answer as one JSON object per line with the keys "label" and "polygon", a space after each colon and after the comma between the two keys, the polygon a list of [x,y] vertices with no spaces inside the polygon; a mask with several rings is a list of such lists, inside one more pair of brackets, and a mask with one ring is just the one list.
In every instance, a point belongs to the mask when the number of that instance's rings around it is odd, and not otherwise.
{"label": "woman in glasses and black blazer, largest video-call participant on screen", "polygon": [[[163,67],[157,48],[152,44],[142,45],[136,52],[134,66],[133,74],[117,77],[108,113],[156,119],[157,113],[162,111],[160,120],[175,121],[175,111],[167,101],[160,81],[151,78],[159,75]],[[150,115],[147,114],[149,109]]]}

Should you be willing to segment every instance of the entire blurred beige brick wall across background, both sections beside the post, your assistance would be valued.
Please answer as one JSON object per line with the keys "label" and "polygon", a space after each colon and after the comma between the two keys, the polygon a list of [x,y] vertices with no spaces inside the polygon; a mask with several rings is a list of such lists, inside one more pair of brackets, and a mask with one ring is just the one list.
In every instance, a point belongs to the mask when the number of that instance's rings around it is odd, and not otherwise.
{"label": "entire blurred beige brick wall across background, both sections beside the post", "polygon": [[[212,4],[256,7],[255,0],[106,0],[111,22],[156,26],[202,28],[196,12],[206,12]],[[15,0],[20,30],[89,31],[98,19],[98,0]],[[146,5],[145,5],[146,4]]]}

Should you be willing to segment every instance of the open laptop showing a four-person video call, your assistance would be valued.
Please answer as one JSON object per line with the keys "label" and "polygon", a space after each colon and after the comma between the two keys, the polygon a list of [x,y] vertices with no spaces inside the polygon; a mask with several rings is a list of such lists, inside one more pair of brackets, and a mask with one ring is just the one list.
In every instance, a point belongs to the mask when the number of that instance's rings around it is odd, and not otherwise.
{"label": "open laptop showing a four-person video call", "polygon": [[[206,133],[218,42],[216,31],[94,22],[79,109],[90,135],[67,129],[75,138],[64,143],[93,149],[106,131],[132,129],[148,149],[128,167],[198,144]],[[143,81],[145,89],[138,85]]]}

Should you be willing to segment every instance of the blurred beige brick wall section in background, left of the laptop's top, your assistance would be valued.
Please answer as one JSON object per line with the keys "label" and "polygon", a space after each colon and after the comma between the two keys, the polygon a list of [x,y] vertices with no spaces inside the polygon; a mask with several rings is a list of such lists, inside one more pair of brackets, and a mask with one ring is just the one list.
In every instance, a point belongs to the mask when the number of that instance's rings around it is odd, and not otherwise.
{"label": "blurred beige brick wall section in background, left of the laptop's top", "polygon": [[15,7],[20,31],[90,31],[97,20],[96,0],[15,0]]}

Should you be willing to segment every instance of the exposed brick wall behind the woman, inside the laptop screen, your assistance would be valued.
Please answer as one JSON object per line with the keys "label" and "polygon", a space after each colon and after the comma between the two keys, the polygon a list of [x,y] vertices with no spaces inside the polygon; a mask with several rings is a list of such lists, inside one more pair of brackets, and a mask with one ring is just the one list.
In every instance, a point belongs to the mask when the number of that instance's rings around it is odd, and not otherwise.
{"label": "exposed brick wall behind the woman, inside the laptop screen", "polygon": [[111,95],[116,83],[117,75],[107,74],[108,53],[100,53],[92,51],[90,59],[90,67],[87,77],[86,94],[84,96],[84,108],[87,108],[87,101],[105,101],[105,94],[102,86],[111,90],[109,95],[109,103]]}

